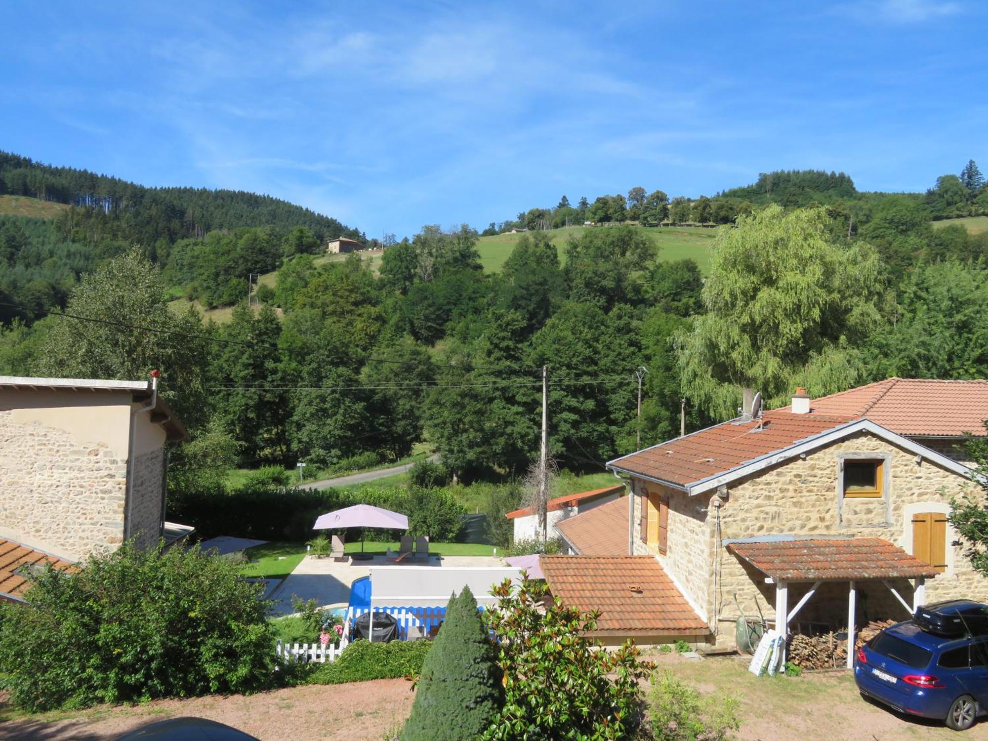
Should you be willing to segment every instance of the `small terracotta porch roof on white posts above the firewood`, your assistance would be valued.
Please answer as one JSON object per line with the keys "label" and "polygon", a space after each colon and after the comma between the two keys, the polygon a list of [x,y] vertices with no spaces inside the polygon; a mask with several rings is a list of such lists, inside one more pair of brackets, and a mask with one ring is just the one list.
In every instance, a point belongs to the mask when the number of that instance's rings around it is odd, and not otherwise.
{"label": "small terracotta porch roof on white posts above the firewood", "polygon": [[911,579],[940,573],[878,537],[732,542],[727,549],[773,579],[786,581]]}

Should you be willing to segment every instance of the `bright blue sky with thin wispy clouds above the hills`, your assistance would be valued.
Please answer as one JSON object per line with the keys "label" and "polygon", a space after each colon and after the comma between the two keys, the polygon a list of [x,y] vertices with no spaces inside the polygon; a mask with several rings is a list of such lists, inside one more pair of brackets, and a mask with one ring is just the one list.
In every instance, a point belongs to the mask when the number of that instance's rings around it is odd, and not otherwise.
{"label": "bright blue sky with thin wispy clouds above the hills", "polygon": [[988,171],[975,0],[612,5],[7,3],[0,149],[399,237],[782,168]]}

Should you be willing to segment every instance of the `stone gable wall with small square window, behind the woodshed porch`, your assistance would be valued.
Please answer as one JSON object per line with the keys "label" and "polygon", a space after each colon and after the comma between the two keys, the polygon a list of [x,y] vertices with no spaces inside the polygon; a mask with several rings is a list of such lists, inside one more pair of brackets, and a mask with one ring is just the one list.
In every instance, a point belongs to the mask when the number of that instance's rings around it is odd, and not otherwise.
{"label": "stone gable wall with small square window, behind the woodshed porch", "polygon": [[[846,499],[837,491],[838,454],[874,453],[887,455],[887,498]],[[805,459],[792,459],[759,475],[730,485],[727,502],[720,509],[722,538],[756,535],[854,535],[880,537],[906,551],[912,551],[911,519],[914,512],[946,509],[950,497],[969,486],[962,476],[935,465],[927,459],[917,462],[915,453],[896,448],[868,434],[836,443]],[[970,567],[959,546],[951,546],[955,535],[947,531],[948,567],[945,573],[926,582],[926,602],[954,597],[988,601],[988,579]],[[712,542],[711,542],[712,544]],[[720,625],[739,616],[734,602],[737,594],[745,615],[757,616],[761,608],[765,617],[775,615],[775,586],[765,584],[765,575],[742,563],[718,543],[713,545],[718,574],[716,594],[711,593],[709,609]],[[791,585],[788,605],[791,609],[809,585]],[[880,582],[864,583],[858,598],[859,624],[872,618],[908,617],[905,608]],[[903,599],[912,603],[910,582],[893,583]],[[847,582],[822,585],[795,620],[831,621],[843,627],[847,622]],[[759,600],[756,607],[756,597]],[[720,636],[733,641],[733,629],[727,627]],[[720,641],[718,641],[720,642]]]}

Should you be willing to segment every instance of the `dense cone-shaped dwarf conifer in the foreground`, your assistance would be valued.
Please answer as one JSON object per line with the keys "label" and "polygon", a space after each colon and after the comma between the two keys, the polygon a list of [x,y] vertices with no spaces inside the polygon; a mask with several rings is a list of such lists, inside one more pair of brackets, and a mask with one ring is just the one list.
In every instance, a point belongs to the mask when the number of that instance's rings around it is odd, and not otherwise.
{"label": "dense cone-shaped dwarf conifer in the foreground", "polygon": [[403,741],[480,736],[501,709],[501,672],[469,587],[453,597],[422,665]]}

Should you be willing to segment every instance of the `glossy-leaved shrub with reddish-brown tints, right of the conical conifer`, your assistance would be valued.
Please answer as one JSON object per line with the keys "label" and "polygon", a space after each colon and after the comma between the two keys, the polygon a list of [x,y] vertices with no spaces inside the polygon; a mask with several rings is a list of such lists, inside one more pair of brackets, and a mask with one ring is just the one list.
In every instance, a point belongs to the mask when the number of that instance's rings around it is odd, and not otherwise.
{"label": "glossy-leaved shrub with reddish-brown tints, right of the conical conifer", "polygon": [[[505,703],[485,738],[619,739],[633,737],[642,716],[638,680],[652,664],[626,641],[605,651],[584,637],[597,613],[543,610],[545,583],[496,586],[498,609],[485,613],[505,677]],[[440,631],[440,635],[442,635]],[[614,677],[612,680],[611,677]]]}

